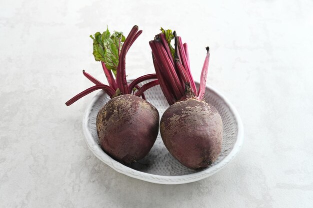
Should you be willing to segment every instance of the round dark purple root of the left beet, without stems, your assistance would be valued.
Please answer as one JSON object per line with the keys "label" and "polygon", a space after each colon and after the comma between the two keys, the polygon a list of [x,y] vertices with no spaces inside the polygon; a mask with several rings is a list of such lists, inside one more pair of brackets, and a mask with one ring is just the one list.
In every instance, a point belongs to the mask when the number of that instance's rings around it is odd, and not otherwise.
{"label": "round dark purple root of the left beet, without stems", "polygon": [[142,159],[158,134],[156,108],[134,95],[109,100],[99,111],[96,128],[103,150],[125,164]]}

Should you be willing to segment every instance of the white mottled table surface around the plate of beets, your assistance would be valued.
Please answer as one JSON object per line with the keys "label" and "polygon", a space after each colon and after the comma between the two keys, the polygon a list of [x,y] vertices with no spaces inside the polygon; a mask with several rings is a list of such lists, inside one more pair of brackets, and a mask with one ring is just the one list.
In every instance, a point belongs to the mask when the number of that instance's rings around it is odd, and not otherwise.
{"label": "white mottled table surface around the plate of beets", "polygon": [[[1,208],[311,208],[313,206],[313,1],[15,0],[0,2]],[[239,112],[237,157],[185,185],[129,178],[88,150],[81,129],[92,86],[104,81],[89,34],[106,25],[143,33],[128,77],[153,72],[148,40],[160,26],[189,44],[198,80]]]}

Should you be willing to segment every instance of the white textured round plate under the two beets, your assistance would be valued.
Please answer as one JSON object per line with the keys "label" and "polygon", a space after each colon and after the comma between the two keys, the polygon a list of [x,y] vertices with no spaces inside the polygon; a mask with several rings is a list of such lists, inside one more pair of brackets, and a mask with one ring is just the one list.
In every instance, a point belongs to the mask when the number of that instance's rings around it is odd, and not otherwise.
{"label": "white textured round plate under the two beets", "polygon": [[[196,84],[198,87],[198,83]],[[161,117],[168,107],[159,86],[152,87],[145,93],[146,100],[154,105]],[[216,161],[208,168],[194,171],[182,166],[165,148],[160,134],[148,153],[140,160],[142,164],[125,166],[105,154],[98,143],[96,133],[96,115],[109,100],[103,92],[98,92],[85,110],[82,128],[85,140],[93,154],[103,163],[126,176],[157,184],[185,184],[204,179],[225,167],[239,152],[243,142],[243,126],[235,108],[229,101],[212,87],[207,86],[204,99],[219,112],[223,122],[222,150]]]}

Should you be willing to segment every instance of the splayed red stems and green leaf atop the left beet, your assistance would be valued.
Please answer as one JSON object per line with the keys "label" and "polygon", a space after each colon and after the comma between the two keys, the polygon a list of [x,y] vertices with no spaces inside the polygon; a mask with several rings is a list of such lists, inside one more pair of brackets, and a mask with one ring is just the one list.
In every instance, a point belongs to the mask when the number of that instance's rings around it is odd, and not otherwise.
{"label": "splayed red stems and green leaf atop the left beet", "polygon": [[65,104],[69,106],[83,96],[98,89],[104,90],[110,98],[118,95],[134,94],[145,99],[143,92],[157,85],[158,82],[154,80],[141,87],[139,87],[139,84],[146,80],[156,79],[156,74],[147,74],[138,77],[128,84],[125,73],[125,56],[130,46],[141,33],[142,30],[138,30],[138,26],[134,25],[127,37],[122,32],[117,31],[111,34],[108,28],[102,33],[96,32],[94,35],[90,35],[93,40],[92,54],[95,61],[101,62],[108,85],[101,83],[83,70],[83,75],[95,85],[75,95]]}

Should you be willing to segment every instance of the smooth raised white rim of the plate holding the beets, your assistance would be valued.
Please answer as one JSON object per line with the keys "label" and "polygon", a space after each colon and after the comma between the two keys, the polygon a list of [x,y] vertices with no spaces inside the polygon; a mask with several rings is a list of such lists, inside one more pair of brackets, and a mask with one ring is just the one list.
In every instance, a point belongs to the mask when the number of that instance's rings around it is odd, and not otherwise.
{"label": "smooth raised white rim of the plate holding the beets", "polygon": [[98,92],[91,100],[90,104],[87,106],[84,116],[82,119],[82,129],[83,134],[85,136],[85,142],[88,146],[88,148],[92,151],[92,153],[103,163],[117,171],[118,173],[124,174],[126,176],[139,179],[142,181],[147,181],[150,183],[155,184],[186,184],[191,183],[195,181],[199,181],[201,179],[204,179],[206,177],[209,177],[218,171],[220,171],[222,168],[224,168],[228,163],[230,163],[234,157],[238,154],[242,143],[243,143],[243,124],[241,121],[241,118],[236,111],[236,109],[232,106],[232,104],[228,101],[227,98],[225,98],[221,93],[219,93],[217,90],[215,90],[211,86],[206,86],[211,92],[215,93],[217,96],[221,98],[221,100],[224,101],[224,103],[228,106],[230,112],[233,114],[237,126],[237,136],[236,141],[229,152],[229,154],[221,160],[216,165],[205,169],[203,171],[192,173],[188,175],[182,175],[182,176],[160,176],[160,175],[154,175],[154,174],[148,174],[140,171],[136,171],[134,169],[131,169],[127,166],[122,165],[121,163],[113,160],[110,156],[105,154],[100,146],[94,141],[92,134],[90,133],[88,129],[88,122],[89,122],[89,116],[92,110],[92,107],[96,103],[96,101],[99,99],[100,96],[104,94],[103,91]]}

